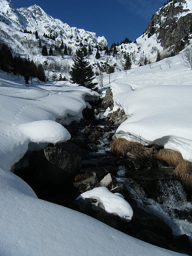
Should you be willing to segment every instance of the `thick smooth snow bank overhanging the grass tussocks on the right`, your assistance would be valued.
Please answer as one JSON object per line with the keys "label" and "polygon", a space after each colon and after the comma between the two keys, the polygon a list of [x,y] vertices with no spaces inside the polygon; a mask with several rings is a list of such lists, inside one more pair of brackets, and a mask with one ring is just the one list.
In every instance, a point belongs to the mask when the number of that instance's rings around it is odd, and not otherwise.
{"label": "thick smooth snow bank overhanging the grass tussocks on the right", "polygon": [[[125,85],[122,85],[125,88]],[[117,131],[117,137],[158,144],[180,152],[192,161],[191,86],[157,85],[121,92],[112,84],[116,108],[130,116]]]}

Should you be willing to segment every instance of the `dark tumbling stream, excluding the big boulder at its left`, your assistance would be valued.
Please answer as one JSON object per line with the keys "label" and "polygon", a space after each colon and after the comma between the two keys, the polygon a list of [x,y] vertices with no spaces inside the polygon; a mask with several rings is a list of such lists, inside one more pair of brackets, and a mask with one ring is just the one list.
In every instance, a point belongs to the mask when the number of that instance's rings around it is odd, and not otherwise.
{"label": "dark tumbling stream, excluding the big boulder at its left", "polygon": [[[99,107],[94,104],[92,111]],[[26,174],[34,168],[33,164],[29,169],[15,171],[15,174],[43,200],[88,214],[145,242],[192,255],[192,203],[180,181],[173,177],[173,168],[151,159],[146,160],[142,168],[134,168],[132,159],[110,152],[117,125],[109,118],[96,120],[94,112],[89,109],[85,112],[82,123],[66,127],[71,133],[70,141],[82,151],[82,166],[75,180],[73,178],[66,186],[38,188],[36,181],[30,180],[32,176]],[[122,192],[133,208],[133,219],[129,223],[120,221],[113,214],[101,216],[98,209],[96,213],[92,209],[83,209],[84,206],[74,201],[84,191],[98,186],[108,173],[115,176],[120,189],[114,193]]]}

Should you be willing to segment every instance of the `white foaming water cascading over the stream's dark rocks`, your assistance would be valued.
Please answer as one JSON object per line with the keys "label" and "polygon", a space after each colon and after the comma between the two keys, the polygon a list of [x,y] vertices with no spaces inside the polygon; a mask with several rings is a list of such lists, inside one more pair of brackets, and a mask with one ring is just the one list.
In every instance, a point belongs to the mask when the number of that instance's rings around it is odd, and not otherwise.
{"label": "white foaming water cascading over the stream's dark rocks", "polygon": [[[100,138],[99,150],[94,154],[103,154],[110,150],[110,143],[105,138],[106,135],[107,132]],[[154,201],[151,198],[147,198],[144,190],[134,180],[125,178],[125,173],[125,167],[119,166],[116,178],[125,184],[137,206],[158,216],[168,224],[173,230],[173,235],[186,234],[192,242],[192,203],[187,201],[187,195],[180,181],[159,180],[157,186],[159,197]]]}

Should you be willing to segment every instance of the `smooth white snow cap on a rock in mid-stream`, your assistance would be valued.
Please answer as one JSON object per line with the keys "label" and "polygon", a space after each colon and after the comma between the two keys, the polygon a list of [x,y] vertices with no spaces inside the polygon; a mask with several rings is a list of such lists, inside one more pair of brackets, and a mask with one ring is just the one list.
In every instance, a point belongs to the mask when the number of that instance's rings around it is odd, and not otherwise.
{"label": "smooth white snow cap on a rock in mid-stream", "polygon": [[107,213],[116,213],[121,220],[129,222],[133,217],[131,205],[119,193],[113,194],[108,188],[100,187],[86,191],[76,198],[92,198],[101,201]]}

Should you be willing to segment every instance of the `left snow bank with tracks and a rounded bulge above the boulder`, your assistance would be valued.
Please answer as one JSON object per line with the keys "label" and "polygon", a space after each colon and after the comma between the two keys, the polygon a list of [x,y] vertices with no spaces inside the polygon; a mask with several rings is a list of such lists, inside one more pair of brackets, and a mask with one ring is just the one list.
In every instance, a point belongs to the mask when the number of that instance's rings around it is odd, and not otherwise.
{"label": "left snow bank with tracks and a rounded bulge above the boulder", "polygon": [[6,79],[0,84],[0,167],[6,170],[14,168],[29,146],[37,150],[44,143],[69,140],[69,132],[60,124],[79,121],[89,105],[86,100],[99,97],[82,86],[55,83],[28,88]]}

